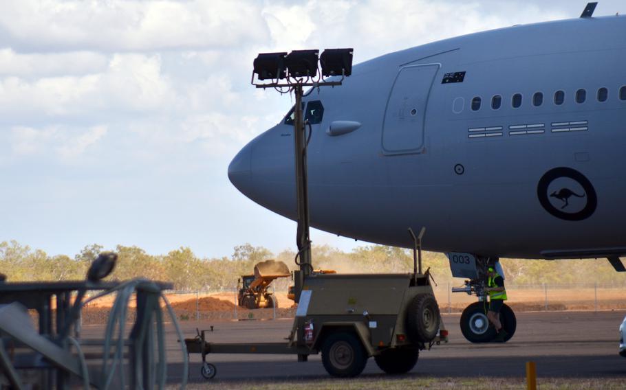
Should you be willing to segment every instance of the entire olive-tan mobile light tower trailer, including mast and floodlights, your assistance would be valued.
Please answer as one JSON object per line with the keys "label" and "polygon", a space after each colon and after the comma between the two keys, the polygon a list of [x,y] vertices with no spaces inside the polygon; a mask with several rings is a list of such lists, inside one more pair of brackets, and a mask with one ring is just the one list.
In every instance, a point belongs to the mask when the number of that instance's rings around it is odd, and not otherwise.
{"label": "entire olive-tan mobile light tower trailer, including mast and floodlights", "polygon": [[[413,273],[403,275],[339,275],[315,273],[311,261],[310,218],[307,192],[307,137],[303,120],[303,87],[338,87],[352,73],[352,49],[259,54],[252,71],[257,88],[293,92],[294,166],[298,229],[298,255],[294,271],[295,301],[299,303],[288,343],[209,343],[206,332],[186,339],[189,353],[202,354],[202,375],[215,376],[207,354],[296,354],[306,361],[310,354],[322,354],[325,369],[333,376],[357,376],[367,358],[374,356],[378,367],[390,374],[409,371],[418,361],[420,349],[442,340],[447,332],[428,271],[422,273],[421,242],[413,238]],[[316,78],[318,62],[321,76]],[[255,84],[259,80],[272,80]],[[341,76],[339,80],[338,76]],[[281,82],[281,80],[285,80]],[[312,132],[308,133],[308,137]],[[419,254],[419,260],[418,260]]]}

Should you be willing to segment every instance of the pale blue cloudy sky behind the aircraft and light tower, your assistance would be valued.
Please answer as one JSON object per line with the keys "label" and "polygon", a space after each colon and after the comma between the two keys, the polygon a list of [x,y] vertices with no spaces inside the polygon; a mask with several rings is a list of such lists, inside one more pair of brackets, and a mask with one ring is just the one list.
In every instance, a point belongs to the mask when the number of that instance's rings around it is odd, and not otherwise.
{"label": "pale blue cloudy sky behind the aircraft and light tower", "polygon": [[[250,86],[263,51],[354,47],[361,62],[585,1],[7,1],[0,13],[0,241],[221,257],[295,247],[295,223],[230,185],[230,159],[289,96]],[[600,1],[596,16],[626,12]],[[363,244],[312,231],[314,244]]]}

